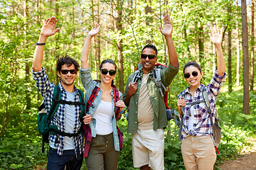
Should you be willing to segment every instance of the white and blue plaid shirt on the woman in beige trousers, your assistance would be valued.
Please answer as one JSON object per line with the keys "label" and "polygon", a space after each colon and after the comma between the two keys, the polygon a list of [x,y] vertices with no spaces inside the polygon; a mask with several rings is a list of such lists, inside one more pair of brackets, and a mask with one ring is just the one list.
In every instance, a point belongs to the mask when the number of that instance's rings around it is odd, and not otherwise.
{"label": "white and blue plaid shirt on the woman in beige trousers", "polygon": [[[213,115],[213,123],[215,120],[215,109],[216,109],[216,99],[218,94],[220,94],[220,88],[223,86],[223,82],[225,82],[226,74],[224,77],[220,77],[220,75],[215,72],[213,74],[213,78],[210,80],[210,84],[207,85],[207,94],[210,102],[210,108]],[[194,94],[194,101],[192,94],[186,88],[180,94],[178,94],[178,99],[183,98],[186,100],[186,103],[191,103],[195,101],[203,100],[203,84],[198,86]],[[184,97],[185,96],[185,97]],[[189,118],[189,108],[193,107],[194,109],[194,117],[195,120],[193,122],[193,130],[188,131],[188,118]],[[188,135],[192,136],[204,136],[204,135],[212,135],[211,134],[211,125],[210,125],[210,117],[208,111],[206,109],[206,104],[204,102],[198,103],[194,106],[186,105],[184,107],[184,115],[183,115],[183,128],[181,131],[181,142],[188,137]]]}

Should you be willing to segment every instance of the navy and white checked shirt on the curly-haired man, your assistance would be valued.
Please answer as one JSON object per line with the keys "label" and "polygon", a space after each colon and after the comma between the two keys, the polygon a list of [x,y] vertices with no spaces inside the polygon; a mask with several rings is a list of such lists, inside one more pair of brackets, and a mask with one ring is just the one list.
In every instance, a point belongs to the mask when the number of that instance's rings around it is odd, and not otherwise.
{"label": "navy and white checked shirt on the curly-haired man", "polygon": [[[53,91],[55,84],[50,83],[47,74],[46,69],[42,68],[40,72],[33,72],[33,79],[36,81],[36,86],[38,88],[38,91],[43,96],[43,101],[46,106],[46,110],[49,113],[50,112],[50,106],[53,102]],[[60,87],[60,93],[61,93],[61,100],[67,100],[67,94],[65,92],[65,89],[63,86],[59,83],[58,86]],[[75,102],[79,102],[79,94],[78,89],[75,88]],[[73,133],[77,133],[80,128],[80,120],[79,120],[79,113],[80,113],[80,106],[75,106],[75,127],[73,129]],[[61,132],[65,132],[65,104],[60,104],[58,107],[58,110],[56,111],[55,115],[53,116],[53,120],[50,121],[51,125],[56,125],[58,127],[58,130]],[[74,145],[75,145],[75,154],[78,155],[82,154],[82,135],[78,135],[78,137],[71,137],[73,138]],[[55,147],[58,148],[58,155],[63,155],[63,140],[64,137],[61,135],[49,135],[49,142],[52,143]]]}

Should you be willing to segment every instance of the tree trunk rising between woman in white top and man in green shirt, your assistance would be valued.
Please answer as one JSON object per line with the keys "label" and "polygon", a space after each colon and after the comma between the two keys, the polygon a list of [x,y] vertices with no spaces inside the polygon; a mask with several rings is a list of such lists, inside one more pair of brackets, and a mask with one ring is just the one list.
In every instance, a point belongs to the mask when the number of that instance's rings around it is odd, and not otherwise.
{"label": "tree trunk rising between woman in white top and man in green shirt", "polygon": [[[116,19],[116,26],[117,26],[117,33],[122,35],[122,1],[118,0],[118,10],[117,10],[117,19]],[[123,47],[122,47],[122,38],[117,41],[117,63],[118,63],[118,76],[119,76],[119,91],[124,94],[124,57],[122,54]]]}

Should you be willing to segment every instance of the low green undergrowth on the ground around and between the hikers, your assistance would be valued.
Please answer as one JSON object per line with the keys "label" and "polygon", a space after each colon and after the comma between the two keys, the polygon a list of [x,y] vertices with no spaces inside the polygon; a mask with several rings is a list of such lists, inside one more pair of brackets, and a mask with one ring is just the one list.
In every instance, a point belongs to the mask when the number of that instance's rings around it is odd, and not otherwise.
{"label": "low green undergrowth on the ground around and between the hikers", "polygon": [[[250,149],[250,139],[256,138],[256,91],[250,93],[250,115],[242,113],[242,90],[223,92],[218,96],[218,113],[222,128],[222,142],[218,147],[220,154],[217,164],[233,159],[241,152]],[[0,137],[0,169],[44,169],[46,153],[42,154],[42,140],[38,134],[36,107],[21,117],[12,118],[9,129]],[[21,119],[22,121],[16,121]],[[18,122],[18,123],[17,123]],[[171,134],[165,130],[165,169],[184,169],[180,142],[177,140],[178,128],[171,120]],[[119,120],[119,128],[124,132],[124,148],[119,153],[118,169],[134,169],[132,166],[131,135],[127,134],[127,120]],[[46,149],[47,152],[48,149]],[[39,168],[40,167],[40,168]],[[83,164],[82,169],[86,169]],[[215,169],[219,169],[215,166]]]}

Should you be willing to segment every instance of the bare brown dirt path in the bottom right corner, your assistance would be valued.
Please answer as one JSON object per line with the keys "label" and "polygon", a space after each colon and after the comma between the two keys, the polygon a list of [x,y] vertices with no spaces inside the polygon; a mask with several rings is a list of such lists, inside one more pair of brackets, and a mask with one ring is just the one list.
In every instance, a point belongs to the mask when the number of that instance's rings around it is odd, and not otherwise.
{"label": "bare brown dirt path in the bottom right corner", "polygon": [[225,160],[223,164],[218,164],[218,167],[222,170],[256,170],[256,139],[250,142],[253,145],[249,149],[243,150],[233,160]]}

